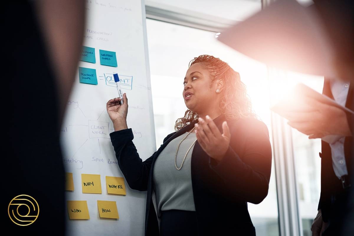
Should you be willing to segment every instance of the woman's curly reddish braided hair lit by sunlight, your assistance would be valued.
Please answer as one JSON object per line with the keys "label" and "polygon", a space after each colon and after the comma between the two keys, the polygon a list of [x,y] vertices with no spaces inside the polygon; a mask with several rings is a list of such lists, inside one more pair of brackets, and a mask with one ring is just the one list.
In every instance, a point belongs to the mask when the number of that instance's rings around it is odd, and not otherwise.
{"label": "woman's curly reddish braided hair lit by sunlight", "polygon": [[[209,70],[212,81],[217,79],[224,80],[224,90],[219,101],[219,109],[227,120],[235,120],[242,117],[257,118],[252,111],[251,100],[246,92],[246,85],[241,81],[240,74],[234,71],[229,64],[210,55],[195,57],[189,62],[189,67],[195,63],[202,63],[202,67]],[[210,87],[211,85],[212,83],[210,83]],[[198,114],[187,109],[184,117],[176,120],[175,130],[178,131],[196,119],[198,119]]]}

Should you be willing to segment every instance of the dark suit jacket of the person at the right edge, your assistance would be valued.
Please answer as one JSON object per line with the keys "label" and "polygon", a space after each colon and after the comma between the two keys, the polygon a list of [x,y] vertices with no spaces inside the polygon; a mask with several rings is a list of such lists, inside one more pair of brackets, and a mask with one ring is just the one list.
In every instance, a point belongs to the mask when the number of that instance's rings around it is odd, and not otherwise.
{"label": "dark suit jacket of the person at the right edge", "polygon": [[[353,83],[349,87],[346,107],[354,110],[353,102]],[[333,99],[333,95],[330,88],[330,82],[325,79],[323,86],[323,94]],[[347,114],[348,124],[353,132],[353,115]],[[353,175],[353,137],[346,137],[344,142],[344,154],[346,158],[346,165],[348,169],[348,175]],[[328,233],[338,232],[340,228],[341,216],[346,211],[346,202],[348,201],[348,189],[343,189],[342,182],[336,176],[332,166],[332,154],[331,147],[328,143],[322,141],[322,148],[320,152],[321,157],[321,196],[319,202],[319,209],[322,212],[322,219],[325,222],[329,222]],[[352,188],[353,188],[353,183]]]}

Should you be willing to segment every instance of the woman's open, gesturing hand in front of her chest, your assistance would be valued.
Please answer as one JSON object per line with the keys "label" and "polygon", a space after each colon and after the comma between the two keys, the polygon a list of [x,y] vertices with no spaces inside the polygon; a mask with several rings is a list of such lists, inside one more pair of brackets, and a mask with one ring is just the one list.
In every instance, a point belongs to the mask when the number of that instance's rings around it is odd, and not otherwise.
{"label": "woman's open, gesturing hand in front of her chest", "polygon": [[199,124],[195,124],[195,132],[201,148],[213,159],[221,161],[227,152],[231,138],[227,122],[223,122],[221,134],[209,116],[206,116],[206,121],[201,117],[198,121]]}

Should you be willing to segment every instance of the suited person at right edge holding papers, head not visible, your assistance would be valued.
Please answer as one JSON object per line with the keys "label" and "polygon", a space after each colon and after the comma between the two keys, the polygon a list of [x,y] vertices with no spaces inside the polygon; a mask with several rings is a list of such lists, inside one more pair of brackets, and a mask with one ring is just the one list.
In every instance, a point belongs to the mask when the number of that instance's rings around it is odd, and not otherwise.
{"label": "suited person at right edge holding papers, head not visible", "polygon": [[[323,94],[354,110],[353,83],[325,79]],[[310,105],[309,105],[310,104]],[[289,125],[309,138],[322,138],[321,196],[318,214],[312,225],[313,235],[338,235],[343,231],[353,183],[354,115],[337,107],[307,100],[301,110],[289,114]],[[349,203],[349,204],[348,204]],[[352,214],[352,212],[350,213]]]}

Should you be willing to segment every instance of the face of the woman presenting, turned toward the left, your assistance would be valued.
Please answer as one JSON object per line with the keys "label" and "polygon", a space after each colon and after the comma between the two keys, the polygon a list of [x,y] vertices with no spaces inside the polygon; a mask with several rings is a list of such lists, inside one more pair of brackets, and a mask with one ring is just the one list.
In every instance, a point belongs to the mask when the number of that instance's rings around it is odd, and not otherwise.
{"label": "face of the woman presenting, turned toward the left", "polygon": [[[187,108],[197,114],[204,114],[218,104],[217,81],[212,82],[208,70],[201,63],[189,67],[184,78],[183,98]],[[190,95],[190,96],[188,96]]]}

